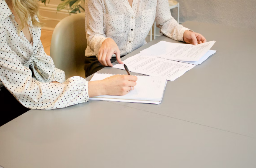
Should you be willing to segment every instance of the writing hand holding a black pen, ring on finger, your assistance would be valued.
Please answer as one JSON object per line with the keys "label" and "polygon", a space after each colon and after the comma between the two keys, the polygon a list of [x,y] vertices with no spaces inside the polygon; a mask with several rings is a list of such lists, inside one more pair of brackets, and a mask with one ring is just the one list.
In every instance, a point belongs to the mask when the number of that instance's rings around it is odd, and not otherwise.
{"label": "writing hand holding a black pen, ring on finger", "polygon": [[134,90],[137,76],[114,75],[103,80],[91,81],[88,83],[89,97],[98,95],[126,95],[129,90]]}

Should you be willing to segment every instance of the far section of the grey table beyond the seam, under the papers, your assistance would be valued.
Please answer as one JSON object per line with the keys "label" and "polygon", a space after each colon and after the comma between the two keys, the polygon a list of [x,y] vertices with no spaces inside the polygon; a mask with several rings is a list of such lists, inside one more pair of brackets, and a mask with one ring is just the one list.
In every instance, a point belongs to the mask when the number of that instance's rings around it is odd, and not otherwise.
{"label": "far section of the grey table beyond the seam, under the papers", "polygon": [[[212,50],[217,53],[168,82],[160,105],[115,103],[256,138],[256,31],[197,22],[183,25],[215,40]],[[162,40],[181,43],[161,36],[122,60]],[[108,67],[99,73],[126,72]]]}

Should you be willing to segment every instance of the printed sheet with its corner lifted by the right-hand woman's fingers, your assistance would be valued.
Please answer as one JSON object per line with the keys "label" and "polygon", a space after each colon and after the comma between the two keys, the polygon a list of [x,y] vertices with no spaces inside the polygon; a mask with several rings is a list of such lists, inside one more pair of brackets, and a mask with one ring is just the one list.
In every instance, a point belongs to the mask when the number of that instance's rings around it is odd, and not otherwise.
{"label": "printed sheet with its corner lifted by the right-hand woman's fingers", "polygon": [[160,41],[159,43],[142,50],[140,53],[168,60],[199,61],[212,48],[214,43],[215,41],[209,41],[199,45],[192,45]]}

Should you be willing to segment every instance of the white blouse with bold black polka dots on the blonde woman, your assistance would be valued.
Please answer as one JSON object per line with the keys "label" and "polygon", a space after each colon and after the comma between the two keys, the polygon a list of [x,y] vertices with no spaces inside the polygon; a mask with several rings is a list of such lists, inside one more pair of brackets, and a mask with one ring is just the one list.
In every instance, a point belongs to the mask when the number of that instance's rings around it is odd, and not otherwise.
{"label": "white blouse with bold black polka dots on the blonde woman", "polygon": [[[88,101],[88,82],[78,76],[65,81],[64,71],[55,68],[44,52],[41,28],[31,20],[28,25],[32,45],[22,31],[18,35],[14,15],[5,0],[0,0],[0,87],[32,109],[64,108]],[[60,84],[49,83],[52,81]]]}

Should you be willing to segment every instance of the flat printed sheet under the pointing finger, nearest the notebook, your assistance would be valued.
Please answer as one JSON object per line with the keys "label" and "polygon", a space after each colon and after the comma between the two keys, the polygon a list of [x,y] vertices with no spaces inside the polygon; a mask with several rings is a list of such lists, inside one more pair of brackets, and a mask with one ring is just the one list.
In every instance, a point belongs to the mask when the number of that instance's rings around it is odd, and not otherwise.
{"label": "flat printed sheet under the pointing finger, nearest the notebook", "polygon": [[[163,58],[145,56],[137,54],[123,61],[129,68],[129,71],[141,73],[149,76],[162,76],[167,80],[173,81],[186,73],[186,71],[194,68],[195,65],[181,63]],[[124,70],[123,64],[116,64],[113,68]]]}

